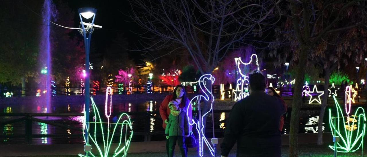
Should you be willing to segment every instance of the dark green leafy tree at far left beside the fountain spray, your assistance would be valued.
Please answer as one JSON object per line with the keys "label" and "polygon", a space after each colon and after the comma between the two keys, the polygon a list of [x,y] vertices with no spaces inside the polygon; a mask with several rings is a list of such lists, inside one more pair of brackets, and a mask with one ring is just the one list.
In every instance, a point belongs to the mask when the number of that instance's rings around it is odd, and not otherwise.
{"label": "dark green leafy tree at far left beside the fountain spray", "polygon": [[1,1],[0,83],[25,83],[37,75],[40,17],[25,6],[41,10],[43,2]]}

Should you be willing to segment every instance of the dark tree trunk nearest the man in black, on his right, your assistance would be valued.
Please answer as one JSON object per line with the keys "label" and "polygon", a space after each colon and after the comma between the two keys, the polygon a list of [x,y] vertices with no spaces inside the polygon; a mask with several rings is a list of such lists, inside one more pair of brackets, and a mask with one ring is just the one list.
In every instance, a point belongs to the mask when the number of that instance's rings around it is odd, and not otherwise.
{"label": "dark tree trunk nearest the man in black, on his right", "polygon": [[309,54],[310,47],[307,45],[301,45],[301,51],[299,54],[298,65],[296,70],[290,135],[289,135],[289,156],[297,157],[298,152],[298,127],[299,127],[299,112],[302,104],[302,86],[305,79],[307,55]]}

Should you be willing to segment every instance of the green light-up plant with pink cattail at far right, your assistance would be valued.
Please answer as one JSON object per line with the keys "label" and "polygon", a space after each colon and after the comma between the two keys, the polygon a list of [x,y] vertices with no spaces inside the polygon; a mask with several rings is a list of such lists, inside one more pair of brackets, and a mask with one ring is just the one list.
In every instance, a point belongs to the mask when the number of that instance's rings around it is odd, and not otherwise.
{"label": "green light-up plant with pink cattail at far right", "polygon": [[363,149],[364,134],[366,133],[366,114],[362,107],[358,107],[352,116],[350,113],[350,100],[351,100],[351,88],[347,86],[345,89],[345,99],[349,100],[345,102],[345,113],[342,111],[337,99],[333,95],[335,108],[337,110],[336,117],[331,114],[329,109],[329,125],[331,128],[331,134],[333,137],[338,136],[339,142],[334,146],[329,146],[334,151],[349,153],[358,150],[361,146]]}

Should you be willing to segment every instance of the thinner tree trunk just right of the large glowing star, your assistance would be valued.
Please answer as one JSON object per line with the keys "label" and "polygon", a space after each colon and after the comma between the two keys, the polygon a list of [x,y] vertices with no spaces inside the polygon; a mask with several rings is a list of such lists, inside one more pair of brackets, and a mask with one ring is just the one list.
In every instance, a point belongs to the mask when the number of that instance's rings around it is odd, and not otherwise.
{"label": "thinner tree trunk just right of the large glowing star", "polygon": [[319,125],[318,125],[318,130],[317,130],[317,145],[323,145],[323,139],[322,139],[322,123],[324,121],[324,115],[325,115],[325,109],[327,106],[327,98],[329,96],[329,80],[330,80],[330,73],[331,70],[330,68],[326,68],[325,69],[325,88],[324,88],[324,95],[323,95],[323,99],[322,99],[322,105],[321,105],[321,109],[320,109],[320,114],[319,114]]}

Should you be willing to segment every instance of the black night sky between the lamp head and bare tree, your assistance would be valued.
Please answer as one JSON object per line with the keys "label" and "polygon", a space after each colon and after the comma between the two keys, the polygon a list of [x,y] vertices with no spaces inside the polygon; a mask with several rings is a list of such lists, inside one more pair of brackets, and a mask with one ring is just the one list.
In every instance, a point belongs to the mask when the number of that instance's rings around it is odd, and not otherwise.
{"label": "black night sky between the lamp head and bare tree", "polygon": [[[93,7],[97,9],[94,20],[96,25],[102,26],[102,29],[95,29],[92,34],[92,44],[95,44],[97,51],[104,51],[110,46],[118,33],[124,33],[127,37],[129,46],[134,46],[139,37],[132,31],[137,31],[139,27],[131,22],[126,15],[130,12],[130,4],[127,0],[120,1],[102,1],[102,0],[64,0],[69,7],[75,11],[75,26],[80,25],[77,9],[81,7]],[[129,57],[134,59],[135,63],[140,63],[141,53],[129,51]]]}

